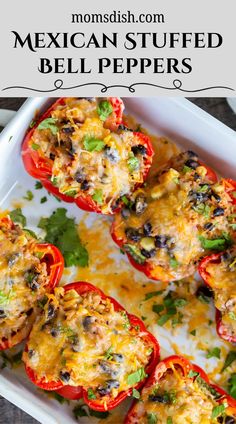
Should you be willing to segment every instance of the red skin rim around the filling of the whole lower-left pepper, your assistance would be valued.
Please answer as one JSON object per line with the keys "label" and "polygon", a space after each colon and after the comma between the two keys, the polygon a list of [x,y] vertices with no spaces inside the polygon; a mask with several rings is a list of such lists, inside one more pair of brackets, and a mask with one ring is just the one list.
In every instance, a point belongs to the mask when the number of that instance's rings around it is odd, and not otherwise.
{"label": "red skin rim around the filling of the whole lower-left pepper", "polygon": [[[115,311],[125,311],[123,306],[121,306],[115,299],[113,299],[110,296],[106,296],[99,288],[93,286],[90,283],[83,282],[83,281],[71,283],[71,284],[67,284],[66,286],[64,286],[64,289],[65,289],[66,292],[69,291],[69,290],[76,290],[77,293],[79,293],[80,295],[83,295],[83,294],[85,294],[89,291],[90,292],[91,291],[96,292],[97,294],[99,294],[101,296],[102,299],[110,299],[111,303],[114,306]],[[159,353],[160,348],[159,348],[158,341],[155,339],[155,337],[151,333],[149,333],[146,330],[144,323],[139,318],[137,318],[135,315],[131,315],[131,314],[128,314],[128,313],[127,313],[127,316],[129,318],[131,328],[139,326],[140,332],[142,333],[142,338],[144,340],[146,340],[148,343],[150,343],[151,347],[153,348],[153,352],[152,352],[152,355],[151,355],[150,362],[149,362],[148,366],[145,368],[145,372],[147,374],[151,374],[151,372],[154,370],[157,362],[159,361],[159,357],[160,357],[160,353]],[[26,347],[26,351],[27,351],[27,347]],[[129,389],[129,390],[126,390],[124,392],[119,393],[118,396],[114,400],[108,401],[106,403],[106,408],[105,408],[104,404],[100,400],[89,399],[87,390],[84,389],[83,387],[79,387],[79,386],[74,387],[74,386],[64,385],[61,381],[47,382],[45,379],[37,380],[37,376],[34,373],[34,371],[27,366],[26,366],[26,373],[27,373],[28,377],[30,378],[30,380],[34,384],[36,384],[36,386],[40,387],[41,389],[56,390],[58,394],[60,394],[61,396],[65,397],[67,399],[73,399],[74,400],[74,399],[80,399],[81,397],[83,397],[84,402],[91,409],[94,409],[94,410],[97,410],[97,411],[111,410],[111,409],[115,408],[117,405],[119,405],[128,396],[131,396],[131,394],[132,394],[132,388]],[[144,382],[145,382],[145,380],[138,383],[135,388],[139,389],[144,384]]]}

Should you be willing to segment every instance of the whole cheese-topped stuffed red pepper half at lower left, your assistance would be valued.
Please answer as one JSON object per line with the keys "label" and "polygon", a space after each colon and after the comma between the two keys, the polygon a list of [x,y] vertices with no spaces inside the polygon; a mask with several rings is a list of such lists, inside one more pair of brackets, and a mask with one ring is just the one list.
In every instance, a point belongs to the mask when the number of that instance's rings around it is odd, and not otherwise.
{"label": "whole cheese-topped stuffed red pepper half at lower left", "polygon": [[159,360],[143,322],[85,282],[48,296],[23,354],[30,380],[92,409],[116,407],[142,386]]}

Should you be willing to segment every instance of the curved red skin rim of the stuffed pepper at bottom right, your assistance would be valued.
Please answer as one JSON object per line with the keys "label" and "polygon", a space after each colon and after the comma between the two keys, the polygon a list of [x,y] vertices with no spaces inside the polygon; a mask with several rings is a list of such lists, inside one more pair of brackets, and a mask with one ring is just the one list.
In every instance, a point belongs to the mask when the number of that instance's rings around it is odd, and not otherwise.
{"label": "curved red skin rim of the stuffed pepper at bottom right", "polygon": [[[221,389],[221,387],[215,384],[211,384],[211,382],[209,381],[208,375],[205,373],[205,371],[203,371],[203,369],[200,368],[198,365],[192,364],[190,361],[188,361],[188,359],[184,358],[183,356],[172,355],[163,359],[163,361],[159,362],[159,364],[157,364],[156,366],[155,371],[148,378],[144,388],[151,387],[154,384],[158,383],[158,381],[162,378],[163,374],[165,374],[165,372],[168,369],[172,369],[173,367],[181,368],[181,371],[183,373],[183,378],[189,378],[193,381],[195,380],[196,376],[189,377],[188,376],[189,372],[190,371],[197,372],[199,377],[201,377],[202,380],[204,380],[207,383],[207,385],[209,385],[212,389],[215,389],[221,395],[221,397],[217,399],[217,402],[221,404],[226,401],[228,404],[228,407],[230,408],[230,414],[233,414],[233,415],[236,414],[236,400],[233,399],[230,395],[228,395],[228,393],[226,393],[223,389]],[[132,403],[128,411],[128,414],[126,415],[124,424],[133,424],[134,422],[138,422],[138,421],[135,421],[135,419],[137,419],[136,411],[135,411],[136,404],[137,404],[137,401],[134,401]]]}

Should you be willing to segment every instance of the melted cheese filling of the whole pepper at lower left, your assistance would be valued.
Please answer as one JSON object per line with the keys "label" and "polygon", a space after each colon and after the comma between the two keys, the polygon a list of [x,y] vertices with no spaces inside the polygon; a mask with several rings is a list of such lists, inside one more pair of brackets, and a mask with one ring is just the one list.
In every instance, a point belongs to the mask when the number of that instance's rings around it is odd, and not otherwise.
{"label": "melted cheese filling of the whole pepper at lower left", "polygon": [[137,385],[129,375],[144,370],[151,352],[139,329],[131,328],[127,314],[115,311],[109,299],[57,288],[34,324],[23,359],[38,379],[90,388],[105,403],[107,396]]}

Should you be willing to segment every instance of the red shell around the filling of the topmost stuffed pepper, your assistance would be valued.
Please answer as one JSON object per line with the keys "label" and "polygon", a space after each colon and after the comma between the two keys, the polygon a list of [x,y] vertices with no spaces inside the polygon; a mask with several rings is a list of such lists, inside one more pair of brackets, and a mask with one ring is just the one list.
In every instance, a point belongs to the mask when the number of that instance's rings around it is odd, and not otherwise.
{"label": "red shell around the filling of the topmost stuffed pepper", "polygon": [[[111,130],[117,130],[118,126],[122,123],[124,104],[121,99],[118,97],[108,98],[109,102],[113,107],[113,113],[111,117],[108,117],[106,120],[107,128]],[[57,109],[59,105],[65,104],[65,98],[60,98],[37,120],[34,126],[27,132],[23,144],[22,144],[22,159],[27,172],[34,178],[39,179],[43,186],[50,193],[54,194],[56,197],[60,198],[64,202],[75,203],[80,209],[89,212],[101,213],[101,207],[96,203],[92,197],[86,192],[82,193],[80,196],[74,198],[66,194],[62,194],[57,187],[55,187],[51,182],[52,176],[52,166],[53,160],[40,155],[38,150],[33,150],[30,145],[30,140],[35,129],[38,127],[40,122],[50,117],[51,112]],[[143,173],[143,179],[147,177],[148,171],[152,163],[152,156],[154,154],[150,138],[147,135],[142,133],[134,132],[134,135],[139,139],[139,144],[142,144],[146,147],[147,156],[145,158],[145,169]],[[135,188],[138,187],[138,184]],[[118,209],[114,210],[115,213]]]}

